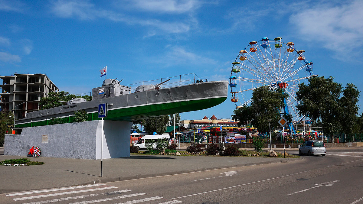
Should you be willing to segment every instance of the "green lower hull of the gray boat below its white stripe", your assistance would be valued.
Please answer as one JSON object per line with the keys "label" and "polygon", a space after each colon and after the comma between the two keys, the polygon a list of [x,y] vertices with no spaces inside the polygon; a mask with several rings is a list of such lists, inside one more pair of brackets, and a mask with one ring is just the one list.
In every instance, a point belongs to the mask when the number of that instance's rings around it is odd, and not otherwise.
{"label": "green lower hull of the gray boat below its white stripe", "polygon": [[[143,118],[155,117],[158,115],[168,115],[172,113],[183,113],[188,111],[203,110],[216,106],[225,101],[226,99],[227,97],[209,98],[201,100],[161,103],[154,105],[114,109],[107,111],[107,117],[104,119],[109,121],[133,121]],[[110,108],[112,108],[112,106]],[[88,115],[88,121],[101,120],[101,118],[98,118],[97,113],[89,113],[87,115]],[[56,116],[54,115],[54,117]],[[64,123],[73,122],[73,116],[65,117],[62,119]],[[15,127],[23,128],[23,127],[49,125],[49,121],[50,119],[46,121],[28,122],[15,125]]]}

